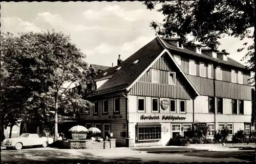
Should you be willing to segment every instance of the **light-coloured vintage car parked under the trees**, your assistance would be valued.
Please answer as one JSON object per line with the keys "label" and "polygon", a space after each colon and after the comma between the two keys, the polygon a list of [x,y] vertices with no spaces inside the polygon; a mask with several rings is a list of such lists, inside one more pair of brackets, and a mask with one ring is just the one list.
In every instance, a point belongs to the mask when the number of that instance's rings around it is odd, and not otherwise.
{"label": "light-coloured vintage car parked under the trees", "polygon": [[43,147],[47,147],[48,144],[52,143],[53,138],[39,137],[38,134],[23,133],[18,138],[5,139],[3,141],[3,147],[7,149],[14,147],[16,150],[20,150],[25,146],[42,145]]}

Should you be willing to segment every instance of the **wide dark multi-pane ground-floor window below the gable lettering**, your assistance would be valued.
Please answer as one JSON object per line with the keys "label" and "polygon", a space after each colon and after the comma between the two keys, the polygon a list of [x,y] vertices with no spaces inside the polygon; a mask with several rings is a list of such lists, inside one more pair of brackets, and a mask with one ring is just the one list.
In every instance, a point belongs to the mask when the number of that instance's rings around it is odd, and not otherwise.
{"label": "wide dark multi-pane ground-floor window below the gable lettering", "polygon": [[138,126],[138,140],[160,140],[161,125]]}

